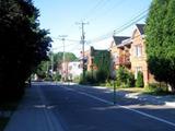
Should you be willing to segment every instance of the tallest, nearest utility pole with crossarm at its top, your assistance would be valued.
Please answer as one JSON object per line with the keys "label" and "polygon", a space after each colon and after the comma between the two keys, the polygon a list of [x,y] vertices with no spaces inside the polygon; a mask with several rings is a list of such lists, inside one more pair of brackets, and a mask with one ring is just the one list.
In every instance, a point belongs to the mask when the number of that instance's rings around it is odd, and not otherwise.
{"label": "tallest, nearest utility pole with crossarm at its top", "polygon": [[84,44],[85,44],[85,33],[84,33],[84,25],[85,24],[89,24],[89,23],[85,23],[85,22],[81,22],[81,23],[77,23],[79,25],[81,25],[81,44],[82,44],[82,59],[83,59],[83,82],[84,82],[84,79],[85,79],[85,63],[84,63]]}

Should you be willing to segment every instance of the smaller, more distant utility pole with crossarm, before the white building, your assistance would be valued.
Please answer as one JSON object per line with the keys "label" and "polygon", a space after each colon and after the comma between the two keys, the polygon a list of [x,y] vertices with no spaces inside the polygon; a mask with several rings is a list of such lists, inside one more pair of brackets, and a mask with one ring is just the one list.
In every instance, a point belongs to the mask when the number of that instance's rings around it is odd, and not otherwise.
{"label": "smaller, more distant utility pole with crossarm, before the white building", "polygon": [[68,76],[68,72],[66,72],[66,60],[65,60],[65,38],[67,37],[67,35],[60,35],[59,36],[62,40],[62,45],[63,45],[63,55],[62,55],[62,72],[63,72],[63,81],[67,80]]}

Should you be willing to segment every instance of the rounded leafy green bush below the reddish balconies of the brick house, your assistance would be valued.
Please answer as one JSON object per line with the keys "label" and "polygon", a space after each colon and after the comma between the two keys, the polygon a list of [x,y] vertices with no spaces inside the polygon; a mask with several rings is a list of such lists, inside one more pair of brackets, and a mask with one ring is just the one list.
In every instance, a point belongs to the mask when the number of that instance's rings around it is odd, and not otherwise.
{"label": "rounded leafy green bush below the reddish balconies of the brick house", "polygon": [[119,67],[119,69],[116,71],[116,78],[117,78],[116,80],[117,86],[121,87],[135,86],[135,75],[124,67]]}

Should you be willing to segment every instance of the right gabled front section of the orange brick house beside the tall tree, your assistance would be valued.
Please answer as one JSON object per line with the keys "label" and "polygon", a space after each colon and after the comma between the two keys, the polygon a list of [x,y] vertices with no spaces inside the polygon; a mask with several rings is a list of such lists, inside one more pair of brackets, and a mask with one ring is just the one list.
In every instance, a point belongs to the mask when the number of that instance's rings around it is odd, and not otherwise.
{"label": "right gabled front section of the orange brick house beside the tall tree", "polygon": [[147,62],[144,24],[136,24],[136,29],[132,33],[131,39],[131,71],[135,73],[136,78],[138,71],[143,73],[144,85],[154,82],[153,75],[149,72]]}

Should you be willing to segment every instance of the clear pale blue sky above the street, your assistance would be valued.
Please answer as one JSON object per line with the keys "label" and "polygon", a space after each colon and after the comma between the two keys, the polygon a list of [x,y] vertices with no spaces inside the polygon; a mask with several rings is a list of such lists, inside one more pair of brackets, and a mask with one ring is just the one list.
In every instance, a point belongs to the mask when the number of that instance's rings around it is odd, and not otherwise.
{"label": "clear pale blue sky above the street", "polygon": [[65,51],[77,57],[82,51],[81,24],[84,24],[85,50],[107,49],[112,37],[131,36],[136,23],[145,23],[152,0],[33,0],[39,9],[40,28],[49,29],[54,52]]}

